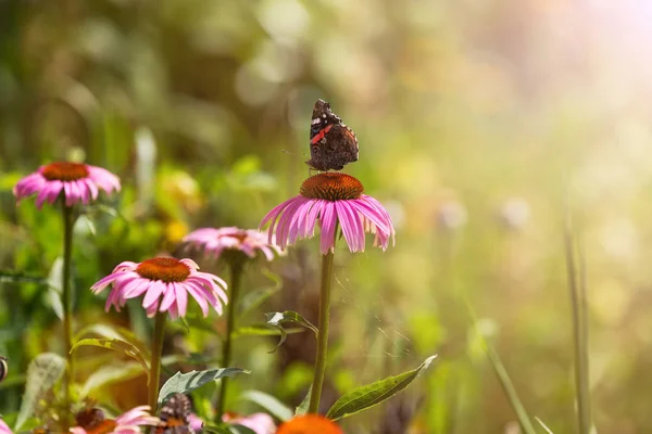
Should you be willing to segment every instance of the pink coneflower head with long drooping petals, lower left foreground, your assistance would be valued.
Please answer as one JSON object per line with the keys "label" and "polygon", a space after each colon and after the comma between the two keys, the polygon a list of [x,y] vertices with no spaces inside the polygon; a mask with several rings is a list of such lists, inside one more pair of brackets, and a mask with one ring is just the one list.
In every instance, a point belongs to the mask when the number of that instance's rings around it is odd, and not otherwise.
{"label": "pink coneflower head with long drooping petals, lower left foreground", "polygon": [[105,310],[111,305],[120,311],[127,299],[145,294],[142,307],[148,317],[158,311],[168,311],[172,319],[186,316],[188,294],[197,301],[204,317],[209,305],[222,315],[222,304],[228,298],[224,290],[226,282],[217,276],[198,271],[192,259],[158,257],[142,263],[124,261],[113,272],[91,286],[95,294],[108,285],[113,289],[106,299]]}

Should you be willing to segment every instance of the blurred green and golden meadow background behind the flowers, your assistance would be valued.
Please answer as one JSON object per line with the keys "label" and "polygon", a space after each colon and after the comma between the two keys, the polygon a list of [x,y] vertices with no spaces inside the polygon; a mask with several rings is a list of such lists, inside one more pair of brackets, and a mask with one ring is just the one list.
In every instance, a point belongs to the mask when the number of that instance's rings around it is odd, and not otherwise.
{"label": "blurred green and golden meadow background behind the flowers", "polygon": [[[0,0],[0,355],[12,370],[0,412],[18,408],[28,361],[61,349],[47,281],[58,276],[60,219],[33,201],[15,205],[21,177],[76,159],[122,178],[123,192],[104,201],[118,215],[76,227],[77,328],[112,322],[147,337],[142,312],[104,314],[87,289],[122,260],[175,251],[191,229],[258,227],[309,175],[323,98],[360,141],[344,171],[397,228],[386,253],[336,254],[324,405],[439,355],[347,432],[515,432],[478,330],[529,412],[574,432],[564,203],[586,255],[595,424],[647,432],[651,22],[644,0]],[[251,321],[284,309],[316,321],[318,260],[310,240],[252,267],[251,288],[278,276],[283,289]],[[210,366],[214,336],[178,329],[166,352]],[[239,387],[297,405],[314,357],[306,335],[275,354],[275,339],[247,340],[238,365],[254,372]],[[115,357],[78,356],[80,381]],[[142,375],[128,380],[134,393],[121,381],[97,397],[123,409],[145,401]]]}

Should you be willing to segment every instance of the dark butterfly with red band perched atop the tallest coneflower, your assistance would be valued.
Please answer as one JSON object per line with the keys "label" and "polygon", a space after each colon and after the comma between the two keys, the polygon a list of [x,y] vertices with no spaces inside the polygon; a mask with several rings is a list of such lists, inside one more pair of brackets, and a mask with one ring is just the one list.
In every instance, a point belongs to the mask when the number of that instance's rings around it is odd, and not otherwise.
{"label": "dark butterfly with red band perched atop the tallest coneflower", "polygon": [[329,103],[317,100],[310,123],[310,159],[305,163],[321,171],[341,170],[356,162],[359,153],[353,130],[333,113]]}

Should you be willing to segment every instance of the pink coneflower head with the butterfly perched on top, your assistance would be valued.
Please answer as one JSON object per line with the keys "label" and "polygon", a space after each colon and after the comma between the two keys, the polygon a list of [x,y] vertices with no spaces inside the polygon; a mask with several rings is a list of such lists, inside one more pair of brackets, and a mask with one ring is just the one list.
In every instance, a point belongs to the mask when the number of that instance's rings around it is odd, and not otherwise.
{"label": "pink coneflower head with the butterfly perched on top", "polygon": [[350,175],[324,173],[312,176],[301,184],[300,194],[272,209],[261,227],[269,225],[268,240],[281,250],[297,239],[314,235],[317,220],[322,227],[321,252],[335,246],[337,225],[342,229],[351,252],[364,252],[365,232],[374,233],[374,246],[384,251],[393,241],[391,217],[380,202],[363,194],[362,183]]}

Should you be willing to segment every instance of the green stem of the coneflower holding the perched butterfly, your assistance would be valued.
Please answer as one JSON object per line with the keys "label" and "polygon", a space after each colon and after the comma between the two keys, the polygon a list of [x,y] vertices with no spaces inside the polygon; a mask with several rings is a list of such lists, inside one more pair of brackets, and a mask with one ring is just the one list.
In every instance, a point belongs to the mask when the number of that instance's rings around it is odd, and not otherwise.
{"label": "green stem of the coneflower holding the perched butterfly", "polygon": [[[336,231],[337,233],[337,231]],[[326,372],[326,355],[328,353],[328,320],[330,316],[330,282],[333,280],[334,248],[322,258],[322,286],[319,289],[319,331],[317,332],[317,356],[315,375],[310,394],[309,413],[319,411],[324,373]]]}

